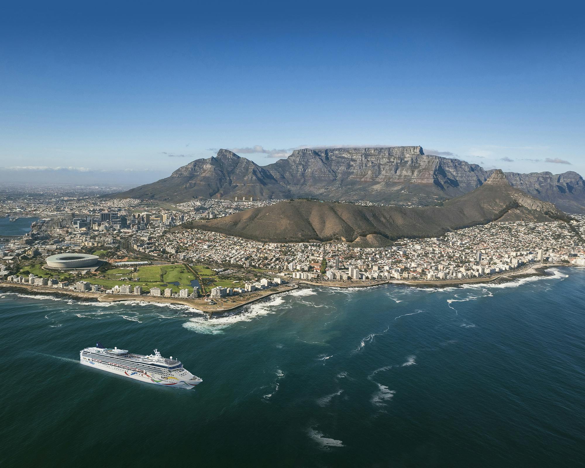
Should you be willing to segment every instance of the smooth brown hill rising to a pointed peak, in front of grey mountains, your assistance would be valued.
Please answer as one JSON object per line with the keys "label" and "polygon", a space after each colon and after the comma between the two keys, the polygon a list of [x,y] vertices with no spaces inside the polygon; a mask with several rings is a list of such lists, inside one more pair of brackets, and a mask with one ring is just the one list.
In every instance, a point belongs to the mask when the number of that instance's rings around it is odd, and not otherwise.
{"label": "smooth brown hill rising to a pointed peak, in front of grey mountains", "polygon": [[438,207],[366,207],[308,200],[282,201],[183,228],[220,232],[260,242],[356,242],[384,246],[399,238],[429,238],[492,221],[570,219],[550,202],[511,187],[496,170],[480,187]]}

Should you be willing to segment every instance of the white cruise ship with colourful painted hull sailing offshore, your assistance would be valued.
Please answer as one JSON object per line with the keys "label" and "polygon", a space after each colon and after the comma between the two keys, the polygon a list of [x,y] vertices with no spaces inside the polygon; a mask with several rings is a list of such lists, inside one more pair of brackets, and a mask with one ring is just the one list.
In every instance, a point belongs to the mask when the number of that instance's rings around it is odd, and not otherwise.
{"label": "white cruise ship with colourful painted hull sailing offshore", "polygon": [[201,378],[184,369],[180,361],[173,356],[170,359],[161,356],[157,349],[154,355],[135,355],[125,349],[105,347],[98,341],[95,347],[86,347],[79,354],[81,364],[85,366],[149,384],[190,390],[202,382]]}

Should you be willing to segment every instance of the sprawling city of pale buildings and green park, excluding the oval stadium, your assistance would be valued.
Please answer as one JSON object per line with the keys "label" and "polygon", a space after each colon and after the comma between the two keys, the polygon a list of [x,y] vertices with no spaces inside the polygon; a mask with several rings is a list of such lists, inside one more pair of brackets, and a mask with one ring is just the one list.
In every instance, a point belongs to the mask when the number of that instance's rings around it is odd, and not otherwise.
{"label": "sprawling city of pale buildings and green park, excluding the oval stadium", "polygon": [[[573,215],[569,223],[493,222],[441,238],[400,239],[388,247],[367,248],[344,242],[260,243],[181,228],[185,221],[276,201],[198,199],[173,206],[54,197],[2,202],[2,216],[39,218],[26,235],[0,240],[0,278],[30,287],[215,304],[235,296],[263,297],[257,292],[280,291],[302,281],[337,286],[461,283],[539,262],[585,266],[581,215]],[[47,263],[47,257],[64,253],[93,255],[96,261],[60,269]]]}

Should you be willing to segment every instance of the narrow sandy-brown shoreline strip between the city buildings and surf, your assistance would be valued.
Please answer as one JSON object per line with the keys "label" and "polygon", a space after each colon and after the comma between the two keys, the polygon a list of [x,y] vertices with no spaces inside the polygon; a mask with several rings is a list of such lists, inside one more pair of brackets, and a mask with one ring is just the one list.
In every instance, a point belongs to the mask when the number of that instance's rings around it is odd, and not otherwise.
{"label": "narrow sandy-brown shoreline strip between the city buildings and surf", "polygon": [[[492,281],[514,281],[521,277],[529,276],[544,276],[545,270],[551,267],[571,266],[570,264],[559,263],[535,263],[528,264],[521,269],[505,271],[503,273],[495,274],[491,277],[481,278],[465,278],[459,280],[383,280],[383,281],[364,281],[363,283],[354,283],[353,281],[307,281],[298,280],[291,281],[291,283],[270,288],[265,292],[256,291],[246,296],[236,296],[235,298],[223,298],[216,300],[217,304],[209,304],[204,300],[194,300],[187,298],[175,297],[159,297],[150,295],[134,295],[134,294],[96,294],[95,292],[72,291],[72,290],[56,290],[55,288],[39,285],[29,285],[20,283],[8,283],[0,281],[0,289],[12,290],[16,292],[26,292],[33,295],[52,294],[61,297],[75,298],[81,301],[99,301],[99,302],[121,302],[121,301],[140,301],[140,302],[159,302],[163,304],[176,304],[192,307],[201,312],[206,312],[211,317],[214,313],[228,312],[252,302],[260,301],[264,298],[270,297],[274,294],[287,292],[297,289],[301,284],[316,287],[329,288],[369,288],[383,284],[408,285],[413,287],[453,287],[469,283],[490,283]],[[245,300],[238,301],[238,298]]]}

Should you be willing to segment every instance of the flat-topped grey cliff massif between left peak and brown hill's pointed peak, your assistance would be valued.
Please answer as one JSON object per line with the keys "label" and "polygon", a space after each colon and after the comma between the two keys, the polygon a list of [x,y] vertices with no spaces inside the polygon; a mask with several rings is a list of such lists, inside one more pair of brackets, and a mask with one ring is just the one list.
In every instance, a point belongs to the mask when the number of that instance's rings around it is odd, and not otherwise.
{"label": "flat-topped grey cliff massif between left peak and brown hill's pointed peak", "polygon": [[[488,174],[475,164],[427,156],[420,146],[297,150],[266,166],[301,196],[357,201],[453,197],[479,187]],[[417,190],[409,190],[413,184]]]}

